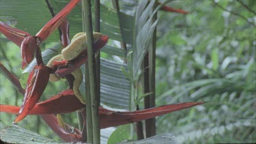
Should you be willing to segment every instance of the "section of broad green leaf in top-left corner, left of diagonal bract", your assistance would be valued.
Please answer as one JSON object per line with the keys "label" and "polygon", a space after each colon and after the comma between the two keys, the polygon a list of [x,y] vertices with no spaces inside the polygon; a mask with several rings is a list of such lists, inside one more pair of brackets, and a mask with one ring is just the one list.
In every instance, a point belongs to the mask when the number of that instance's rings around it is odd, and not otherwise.
{"label": "section of broad green leaf in top-left corner, left of diagonal bract", "polygon": [[[38,33],[52,18],[46,2],[43,0],[2,0],[0,5],[0,19],[3,22],[10,23],[12,26],[27,31],[31,35]],[[53,42],[56,40],[59,40],[58,31],[51,34],[46,41]]]}

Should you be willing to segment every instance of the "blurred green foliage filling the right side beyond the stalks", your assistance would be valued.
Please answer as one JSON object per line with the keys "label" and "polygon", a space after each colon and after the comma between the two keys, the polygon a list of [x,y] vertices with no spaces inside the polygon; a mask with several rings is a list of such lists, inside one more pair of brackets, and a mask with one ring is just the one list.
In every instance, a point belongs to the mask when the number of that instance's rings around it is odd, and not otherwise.
{"label": "blurred green foliage filling the right side beyond the stalks", "polygon": [[157,105],[206,103],[158,117],[158,132],[182,143],[256,141],[256,1],[242,3],[180,1],[170,5],[190,14],[160,13]]}

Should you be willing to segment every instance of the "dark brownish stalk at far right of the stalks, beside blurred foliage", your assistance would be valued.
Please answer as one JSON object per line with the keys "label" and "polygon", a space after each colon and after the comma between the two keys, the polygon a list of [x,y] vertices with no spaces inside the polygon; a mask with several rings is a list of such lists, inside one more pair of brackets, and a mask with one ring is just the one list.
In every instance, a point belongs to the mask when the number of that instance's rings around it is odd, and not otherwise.
{"label": "dark brownish stalk at far right of the stalks, beside blurred foliage", "polygon": [[[158,1],[154,3],[154,9],[156,9]],[[156,20],[157,13],[154,14],[153,20]],[[148,67],[147,67],[148,66]],[[156,28],[154,29],[152,46],[150,46],[148,53],[144,59],[144,92],[152,92],[150,96],[145,98],[145,109],[156,106]],[[145,132],[146,137],[156,135],[156,118],[145,120]]]}

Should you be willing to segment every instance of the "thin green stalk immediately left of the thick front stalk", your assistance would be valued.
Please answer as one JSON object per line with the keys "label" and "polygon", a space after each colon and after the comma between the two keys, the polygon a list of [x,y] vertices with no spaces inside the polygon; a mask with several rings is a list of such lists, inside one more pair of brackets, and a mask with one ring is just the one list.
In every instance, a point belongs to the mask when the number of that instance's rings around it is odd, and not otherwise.
{"label": "thin green stalk immediately left of the thick front stalk", "polygon": [[[85,1],[82,1],[83,32],[85,32],[85,6],[84,5],[85,5]],[[86,100],[86,127],[83,126],[83,137],[84,139],[86,139],[86,136],[87,136],[87,142],[93,143],[88,61],[85,63],[85,100]],[[85,133],[87,135],[85,135]]]}

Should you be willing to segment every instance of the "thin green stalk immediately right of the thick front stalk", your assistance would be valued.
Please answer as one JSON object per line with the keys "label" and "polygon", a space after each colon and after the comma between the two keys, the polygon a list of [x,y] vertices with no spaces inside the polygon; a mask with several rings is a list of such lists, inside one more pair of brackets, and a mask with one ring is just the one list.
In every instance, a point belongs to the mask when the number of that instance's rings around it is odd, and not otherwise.
{"label": "thin green stalk immediately right of the thick front stalk", "polygon": [[[94,0],[94,19],[95,27],[94,31],[100,32],[100,0]],[[98,106],[100,106],[100,51],[96,52],[96,84],[97,84],[97,101]]]}

